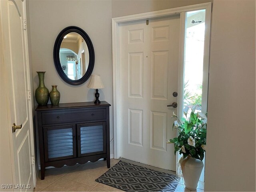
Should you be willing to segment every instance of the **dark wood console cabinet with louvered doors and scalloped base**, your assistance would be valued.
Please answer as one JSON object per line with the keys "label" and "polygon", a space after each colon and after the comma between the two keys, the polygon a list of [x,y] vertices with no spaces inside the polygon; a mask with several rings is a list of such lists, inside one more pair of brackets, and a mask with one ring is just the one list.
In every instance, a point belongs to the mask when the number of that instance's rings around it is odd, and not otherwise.
{"label": "dark wood console cabinet with louvered doors and scalloped base", "polygon": [[41,179],[48,166],[107,160],[110,168],[109,106],[105,101],[36,108]]}

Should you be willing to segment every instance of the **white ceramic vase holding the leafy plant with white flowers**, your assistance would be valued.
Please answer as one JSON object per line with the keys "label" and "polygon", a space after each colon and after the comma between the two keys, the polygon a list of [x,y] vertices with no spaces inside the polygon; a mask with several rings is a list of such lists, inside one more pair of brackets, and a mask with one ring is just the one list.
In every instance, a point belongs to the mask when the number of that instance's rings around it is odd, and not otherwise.
{"label": "white ceramic vase holding the leafy plant with white flowers", "polygon": [[[182,164],[183,158],[180,163]],[[182,175],[184,183],[187,189],[196,190],[204,163],[198,159],[192,158],[185,159],[184,166],[182,168]]]}

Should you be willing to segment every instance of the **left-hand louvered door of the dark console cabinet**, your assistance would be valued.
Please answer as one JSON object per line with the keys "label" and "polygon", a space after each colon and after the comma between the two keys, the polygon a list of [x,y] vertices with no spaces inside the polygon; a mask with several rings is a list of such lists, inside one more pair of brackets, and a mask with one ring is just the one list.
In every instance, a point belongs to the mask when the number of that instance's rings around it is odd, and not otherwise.
{"label": "left-hand louvered door of the dark console cabinet", "polygon": [[45,161],[76,157],[76,125],[44,127]]}

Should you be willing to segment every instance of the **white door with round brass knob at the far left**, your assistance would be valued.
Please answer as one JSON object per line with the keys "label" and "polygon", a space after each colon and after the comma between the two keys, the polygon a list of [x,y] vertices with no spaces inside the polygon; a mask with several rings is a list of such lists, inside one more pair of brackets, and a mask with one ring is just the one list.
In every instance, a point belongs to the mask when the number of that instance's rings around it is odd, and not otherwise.
{"label": "white door with round brass knob at the far left", "polygon": [[[1,0],[6,106],[12,156],[13,184],[18,191],[32,191],[35,186],[34,137],[27,34],[24,20],[26,5],[22,0]],[[12,125],[22,125],[12,132]],[[1,127],[2,128],[2,127]]]}

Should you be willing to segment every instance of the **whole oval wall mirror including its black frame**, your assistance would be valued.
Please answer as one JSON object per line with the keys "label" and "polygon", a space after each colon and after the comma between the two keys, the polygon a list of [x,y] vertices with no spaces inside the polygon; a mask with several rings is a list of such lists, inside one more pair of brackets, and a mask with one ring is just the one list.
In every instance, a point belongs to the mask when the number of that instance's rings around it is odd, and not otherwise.
{"label": "whole oval wall mirror including its black frame", "polygon": [[53,50],[55,68],[71,85],[80,85],[92,74],[94,48],[84,30],[76,26],[64,28],[58,34]]}

